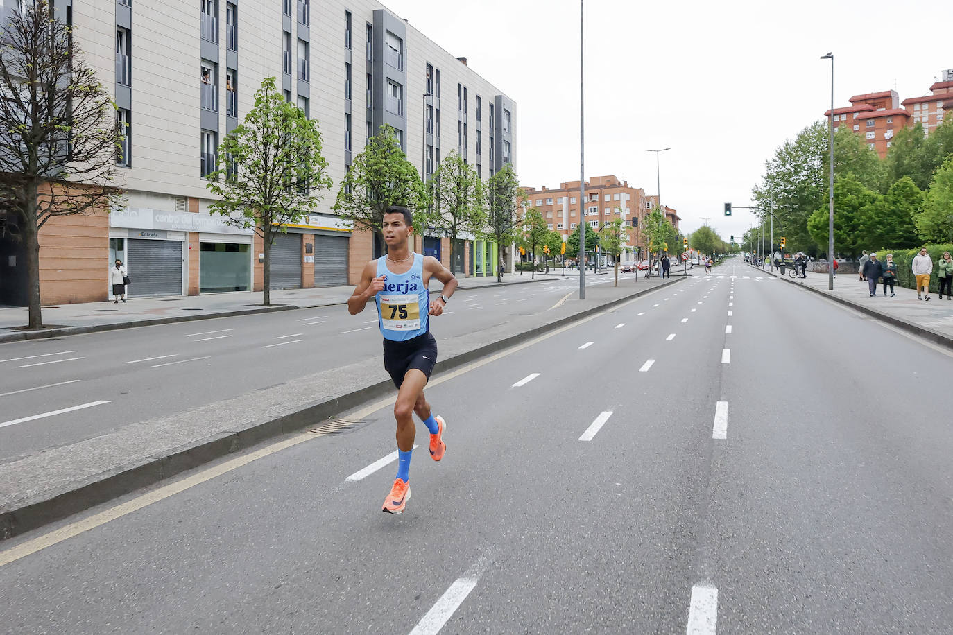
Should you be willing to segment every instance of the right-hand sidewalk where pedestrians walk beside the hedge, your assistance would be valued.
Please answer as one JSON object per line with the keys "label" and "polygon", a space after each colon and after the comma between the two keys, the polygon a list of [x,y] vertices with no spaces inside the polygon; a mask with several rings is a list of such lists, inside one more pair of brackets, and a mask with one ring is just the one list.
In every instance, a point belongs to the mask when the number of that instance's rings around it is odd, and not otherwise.
{"label": "right-hand sidewalk where pedestrians walk beside the hedge", "polygon": [[[752,267],[766,275],[780,277],[793,285],[799,285],[814,293],[819,293],[835,302],[871,315],[895,327],[920,335],[943,347],[953,348],[953,300],[931,293],[931,300],[917,300],[917,292],[912,288],[896,287],[896,296],[891,297],[889,290],[883,295],[883,285],[877,285],[877,296],[870,297],[867,281],[859,282],[857,273],[841,273],[834,276],[834,290],[828,290],[829,277],[826,273],[807,273],[807,278],[790,278],[785,272],[775,268],[761,269]],[[889,288],[888,288],[889,289]]]}

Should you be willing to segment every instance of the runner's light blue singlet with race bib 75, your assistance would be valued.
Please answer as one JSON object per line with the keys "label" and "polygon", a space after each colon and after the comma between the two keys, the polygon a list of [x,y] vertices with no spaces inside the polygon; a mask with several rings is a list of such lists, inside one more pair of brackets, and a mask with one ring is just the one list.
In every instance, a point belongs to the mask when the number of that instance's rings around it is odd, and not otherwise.
{"label": "runner's light blue singlet with race bib 75", "polygon": [[387,268],[387,256],[377,259],[377,277],[387,276],[378,291],[377,324],[384,339],[403,342],[427,332],[430,325],[430,291],[423,285],[423,255],[415,253],[406,273]]}

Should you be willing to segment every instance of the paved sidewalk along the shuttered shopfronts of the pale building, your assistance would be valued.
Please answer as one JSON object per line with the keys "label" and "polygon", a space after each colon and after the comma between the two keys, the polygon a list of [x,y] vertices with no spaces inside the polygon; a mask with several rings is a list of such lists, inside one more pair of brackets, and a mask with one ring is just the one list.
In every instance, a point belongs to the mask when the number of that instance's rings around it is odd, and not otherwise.
{"label": "paved sidewalk along the shuttered shopfronts of the pale building", "polygon": [[[500,286],[497,277],[460,278],[461,289]],[[528,275],[504,274],[502,285],[540,282]],[[437,290],[439,283],[436,283]],[[432,285],[433,287],[433,285]],[[76,335],[98,330],[147,327],[171,322],[208,320],[231,315],[248,315],[293,308],[342,305],[354,292],[346,287],[290,288],[272,291],[272,306],[261,306],[261,291],[233,291],[206,295],[179,295],[164,298],[136,298],[134,287],[128,303],[113,304],[112,299],[74,305],[43,308],[42,330],[20,330],[28,323],[26,307],[0,308],[0,343],[32,340],[62,335]]]}

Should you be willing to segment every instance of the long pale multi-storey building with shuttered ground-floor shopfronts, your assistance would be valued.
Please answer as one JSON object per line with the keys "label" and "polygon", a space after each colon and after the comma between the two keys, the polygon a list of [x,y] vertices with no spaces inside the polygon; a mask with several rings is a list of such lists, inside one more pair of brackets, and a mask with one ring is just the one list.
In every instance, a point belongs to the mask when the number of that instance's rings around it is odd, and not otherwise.
{"label": "long pale multi-storey building with shuttered ground-floor shopfronts", "polygon": [[[0,12],[12,4],[0,0]],[[276,236],[272,288],[355,284],[380,255],[370,233],[331,207],[382,125],[425,178],[451,150],[484,179],[516,163],[514,101],[374,0],[55,0],[55,8],[114,90],[126,200],[41,231],[44,303],[106,299],[114,258],[130,270],[133,297],[262,288],[261,239],[210,213],[206,184],[221,140],[253,108],[265,77],[317,120],[334,180],[316,192],[305,222]],[[419,236],[415,248],[458,274],[490,275],[497,247],[474,238],[461,241],[456,263],[446,238]],[[11,249],[0,241],[0,256]],[[22,276],[4,273],[0,303],[18,304]]]}

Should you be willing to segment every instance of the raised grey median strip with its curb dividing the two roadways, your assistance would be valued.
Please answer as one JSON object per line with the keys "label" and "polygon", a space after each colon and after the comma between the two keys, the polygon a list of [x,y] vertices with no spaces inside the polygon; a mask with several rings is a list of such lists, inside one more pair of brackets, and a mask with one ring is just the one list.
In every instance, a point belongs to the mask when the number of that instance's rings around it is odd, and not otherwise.
{"label": "raised grey median strip with its curb dividing the two roadways", "polygon": [[[547,280],[545,276],[537,278],[540,279]],[[552,281],[552,277],[548,279]],[[679,285],[683,280],[685,278],[652,278],[636,282],[629,278],[619,280],[618,287],[587,286],[585,300],[570,293],[552,308],[518,315],[492,330],[438,340],[440,361],[435,367],[435,377],[533,337],[568,327],[639,295]],[[327,289],[314,289],[315,295],[319,291],[327,292]],[[140,487],[152,486],[270,438],[298,433],[297,437],[290,437],[294,441],[302,432],[320,436],[360,425],[364,422],[329,421],[329,418],[339,417],[374,399],[390,399],[394,393],[394,384],[375,355],[342,361],[338,367],[285,384],[132,423],[85,441],[0,463],[0,540]]]}

